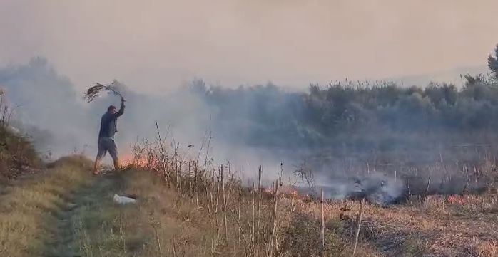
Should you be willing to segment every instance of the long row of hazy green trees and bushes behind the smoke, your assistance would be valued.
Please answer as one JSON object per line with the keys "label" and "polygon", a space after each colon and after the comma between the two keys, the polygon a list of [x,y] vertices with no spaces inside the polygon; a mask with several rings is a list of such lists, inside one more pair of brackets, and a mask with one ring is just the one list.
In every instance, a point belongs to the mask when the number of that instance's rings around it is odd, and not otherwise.
{"label": "long row of hazy green trees and bushes behind the smoke", "polygon": [[[430,133],[472,133],[498,127],[498,85],[467,76],[463,88],[431,83],[403,88],[395,83],[311,85],[289,93],[275,85],[226,89],[195,84],[195,93],[212,107],[225,137],[248,145],[337,145]],[[240,127],[238,127],[240,126]],[[230,135],[230,131],[237,131]],[[355,143],[347,140],[348,143]]]}

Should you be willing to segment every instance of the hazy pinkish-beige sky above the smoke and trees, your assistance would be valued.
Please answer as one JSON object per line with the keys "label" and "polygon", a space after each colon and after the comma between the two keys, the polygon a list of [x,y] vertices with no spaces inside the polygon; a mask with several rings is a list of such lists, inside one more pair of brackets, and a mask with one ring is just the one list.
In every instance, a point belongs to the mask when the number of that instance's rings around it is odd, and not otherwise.
{"label": "hazy pinkish-beige sky above the smoke and trees", "polygon": [[0,0],[0,65],[44,56],[78,88],[302,85],[485,64],[496,0]]}

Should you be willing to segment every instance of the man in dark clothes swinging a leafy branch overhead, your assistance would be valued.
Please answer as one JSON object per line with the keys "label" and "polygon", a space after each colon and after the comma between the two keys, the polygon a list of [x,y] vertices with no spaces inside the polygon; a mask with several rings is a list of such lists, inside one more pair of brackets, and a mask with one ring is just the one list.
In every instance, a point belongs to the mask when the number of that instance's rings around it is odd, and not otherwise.
{"label": "man in dark clothes swinging a leafy branch overhead", "polygon": [[121,107],[116,112],[116,107],[111,105],[107,108],[107,112],[102,115],[101,130],[98,132],[98,154],[95,159],[95,166],[93,167],[93,174],[98,175],[98,164],[106,152],[111,154],[114,161],[114,169],[120,169],[118,159],[118,148],[114,143],[114,134],[117,130],[118,117],[123,115],[124,112],[124,98],[121,97]]}

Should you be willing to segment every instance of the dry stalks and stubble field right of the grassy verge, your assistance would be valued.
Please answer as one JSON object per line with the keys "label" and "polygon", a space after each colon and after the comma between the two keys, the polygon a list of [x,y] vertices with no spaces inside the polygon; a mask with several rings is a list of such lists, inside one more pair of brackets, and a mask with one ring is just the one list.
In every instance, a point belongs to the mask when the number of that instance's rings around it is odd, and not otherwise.
{"label": "dry stalks and stubble field right of the grassy verge", "polygon": [[[178,154],[178,146],[168,152],[149,144],[133,152],[130,167],[152,170],[178,192],[176,201],[198,206],[196,212],[208,218],[205,222],[215,238],[229,249],[244,248],[246,256],[352,252],[357,201],[327,201],[322,214],[316,199],[298,195],[292,184],[280,187],[280,192],[275,184],[245,187],[228,165],[214,165],[208,158],[199,165]],[[321,215],[326,221],[325,247],[317,243]],[[494,256],[497,251],[494,194],[410,196],[392,206],[367,203],[363,215],[358,256]]]}

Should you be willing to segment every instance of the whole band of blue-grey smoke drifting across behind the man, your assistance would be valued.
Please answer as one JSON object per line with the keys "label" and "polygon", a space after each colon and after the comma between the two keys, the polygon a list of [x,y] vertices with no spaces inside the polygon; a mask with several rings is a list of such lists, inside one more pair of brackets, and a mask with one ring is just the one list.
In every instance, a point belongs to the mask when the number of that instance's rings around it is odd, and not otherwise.
{"label": "whole band of blue-grey smoke drifting across behind the man", "polygon": [[[156,138],[158,120],[168,142],[194,145],[189,154],[207,151],[216,162],[230,162],[245,177],[254,177],[261,164],[265,179],[273,179],[281,162],[284,175],[290,176],[306,159],[316,173],[316,185],[324,187],[330,198],[365,196],[392,202],[406,193],[406,184],[413,183],[414,179],[407,182],[410,176],[432,176],[433,184],[427,188],[433,192],[447,190],[451,183],[442,183],[447,177],[459,182],[453,189],[467,188],[468,172],[432,174],[430,165],[440,160],[440,170],[447,170],[443,159],[448,163],[457,159],[463,161],[457,163],[459,169],[479,159],[482,151],[462,155],[454,145],[496,138],[489,128],[498,124],[494,99],[498,91],[483,79],[473,79],[463,90],[453,85],[398,88],[380,82],[364,87],[312,85],[305,93],[287,92],[271,83],[220,88],[203,80],[166,95],[124,88],[126,111],[118,120],[117,142],[121,155],[129,154],[133,143]],[[52,158],[71,152],[93,158],[100,117],[108,105],[119,103],[112,95],[84,103],[71,81],[44,58],[0,69],[0,85],[11,104],[19,105],[13,125],[31,135],[37,149]],[[467,181],[458,176],[467,176]],[[425,182],[420,184],[423,187]]]}

